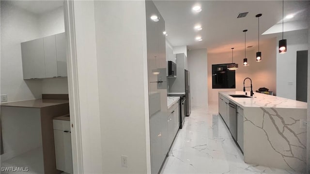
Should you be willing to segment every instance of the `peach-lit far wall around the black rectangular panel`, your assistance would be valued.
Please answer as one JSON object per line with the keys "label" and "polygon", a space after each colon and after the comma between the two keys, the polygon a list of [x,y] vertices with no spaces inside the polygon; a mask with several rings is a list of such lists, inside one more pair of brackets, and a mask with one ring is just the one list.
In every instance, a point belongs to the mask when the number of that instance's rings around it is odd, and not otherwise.
{"label": "peach-lit far wall around the black rectangular panel", "polygon": [[[212,65],[232,62],[232,51],[225,53],[208,54],[208,98],[209,102],[218,102],[219,91],[242,91],[243,80],[246,77],[252,79],[253,91],[260,87],[266,87],[276,93],[276,38],[262,41],[260,51],[262,52],[262,61],[256,62],[256,52],[258,49],[247,49],[247,58],[249,66],[243,66],[244,50],[233,51],[233,61],[238,63],[238,70],[235,71],[236,88],[233,89],[212,89]],[[249,86],[249,80],[246,86]],[[246,88],[250,91],[250,88]],[[249,92],[248,92],[249,94]]]}

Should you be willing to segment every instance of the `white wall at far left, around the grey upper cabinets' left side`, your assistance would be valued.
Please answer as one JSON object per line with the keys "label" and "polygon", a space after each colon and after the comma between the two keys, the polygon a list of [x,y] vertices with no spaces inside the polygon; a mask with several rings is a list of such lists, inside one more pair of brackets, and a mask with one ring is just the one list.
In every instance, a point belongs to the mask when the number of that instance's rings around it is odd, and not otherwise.
{"label": "white wall at far left, around the grey upper cabinets' left side", "polygon": [[41,80],[23,80],[20,43],[40,38],[39,19],[1,1],[1,94],[8,102],[41,98]]}

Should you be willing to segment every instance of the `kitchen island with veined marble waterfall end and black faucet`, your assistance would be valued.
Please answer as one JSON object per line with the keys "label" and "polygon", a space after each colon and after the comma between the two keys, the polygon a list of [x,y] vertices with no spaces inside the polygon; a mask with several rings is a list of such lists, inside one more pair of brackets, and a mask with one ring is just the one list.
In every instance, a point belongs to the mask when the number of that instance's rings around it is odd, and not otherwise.
{"label": "kitchen island with veined marble waterfall end and black faucet", "polygon": [[244,94],[218,94],[219,113],[231,132],[229,103],[237,105],[234,139],[244,152],[244,161],[305,173],[307,103],[261,93],[249,98],[230,96]]}

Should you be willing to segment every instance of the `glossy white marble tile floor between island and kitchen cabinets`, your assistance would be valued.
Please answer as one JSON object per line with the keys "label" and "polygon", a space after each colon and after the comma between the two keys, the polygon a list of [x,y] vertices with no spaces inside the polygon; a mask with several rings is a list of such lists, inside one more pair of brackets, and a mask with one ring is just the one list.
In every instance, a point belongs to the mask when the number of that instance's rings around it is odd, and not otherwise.
{"label": "glossy white marble tile floor between island and kitchen cabinets", "polygon": [[193,107],[179,130],[161,174],[300,174],[247,164],[218,116],[217,103]]}

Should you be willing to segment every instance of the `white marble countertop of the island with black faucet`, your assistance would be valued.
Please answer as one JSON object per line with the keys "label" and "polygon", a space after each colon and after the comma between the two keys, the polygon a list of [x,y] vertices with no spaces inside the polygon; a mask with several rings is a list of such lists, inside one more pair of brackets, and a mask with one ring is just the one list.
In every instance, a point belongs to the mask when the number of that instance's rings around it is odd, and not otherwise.
{"label": "white marble countertop of the island with black faucet", "polygon": [[[250,92],[248,92],[248,96]],[[219,92],[227,99],[236,103],[240,107],[272,107],[272,108],[297,108],[297,109],[307,109],[307,102],[300,102],[291,99],[285,99],[282,97],[262,94],[254,92],[251,98],[233,98],[229,95],[231,94],[241,94],[244,95],[243,91],[227,91]]]}

